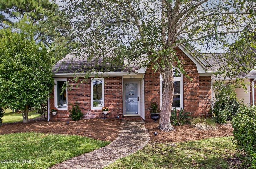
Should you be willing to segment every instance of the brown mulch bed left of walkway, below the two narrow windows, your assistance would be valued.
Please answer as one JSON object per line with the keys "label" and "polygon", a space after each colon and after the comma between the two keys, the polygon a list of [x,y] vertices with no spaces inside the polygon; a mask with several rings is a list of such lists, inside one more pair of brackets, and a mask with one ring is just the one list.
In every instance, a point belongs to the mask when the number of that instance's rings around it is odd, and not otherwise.
{"label": "brown mulch bed left of walkway, below the two narrow windows", "polygon": [[87,119],[67,122],[33,121],[27,124],[9,123],[0,127],[0,134],[18,132],[40,132],[54,134],[74,134],[94,139],[113,141],[117,138],[121,127],[120,120]]}

